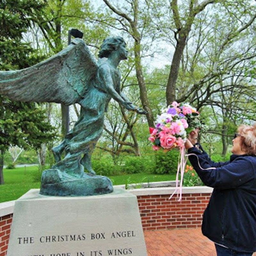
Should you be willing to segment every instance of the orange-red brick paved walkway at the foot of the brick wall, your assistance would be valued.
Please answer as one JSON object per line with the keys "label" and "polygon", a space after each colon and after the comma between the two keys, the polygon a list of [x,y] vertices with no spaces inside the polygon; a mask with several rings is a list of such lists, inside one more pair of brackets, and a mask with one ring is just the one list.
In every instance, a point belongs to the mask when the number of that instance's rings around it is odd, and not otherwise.
{"label": "orange-red brick paved walkway at the foot of the brick wall", "polygon": [[144,236],[148,256],[216,256],[214,244],[201,228],[144,231]]}

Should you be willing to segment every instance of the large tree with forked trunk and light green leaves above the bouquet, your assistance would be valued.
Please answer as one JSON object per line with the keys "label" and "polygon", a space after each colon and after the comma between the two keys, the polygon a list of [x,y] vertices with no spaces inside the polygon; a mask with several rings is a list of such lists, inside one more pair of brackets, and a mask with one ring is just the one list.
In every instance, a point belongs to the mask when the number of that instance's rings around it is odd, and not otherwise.
{"label": "large tree with forked trunk and light green leaves above the bouquet", "polygon": [[250,29],[256,17],[255,5],[250,0],[160,2],[159,6],[151,1],[150,9],[152,29],[159,31],[159,40],[173,48],[166,84],[167,105],[173,100],[190,101],[209,80],[217,80],[236,66],[236,61],[243,60],[245,52],[238,55],[233,50],[237,42],[254,33]]}

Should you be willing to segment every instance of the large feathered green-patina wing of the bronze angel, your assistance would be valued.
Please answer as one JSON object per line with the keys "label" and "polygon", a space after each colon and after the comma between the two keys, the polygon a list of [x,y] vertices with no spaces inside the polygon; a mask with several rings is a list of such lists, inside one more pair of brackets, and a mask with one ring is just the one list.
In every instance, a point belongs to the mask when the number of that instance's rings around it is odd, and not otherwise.
{"label": "large feathered green-patina wing of the bronze angel", "polygon": [[0,71],[0,94],[17,101],[70,105],[83,98],[97,68],[84,41],[76,38],[61,52],[34,66]]}

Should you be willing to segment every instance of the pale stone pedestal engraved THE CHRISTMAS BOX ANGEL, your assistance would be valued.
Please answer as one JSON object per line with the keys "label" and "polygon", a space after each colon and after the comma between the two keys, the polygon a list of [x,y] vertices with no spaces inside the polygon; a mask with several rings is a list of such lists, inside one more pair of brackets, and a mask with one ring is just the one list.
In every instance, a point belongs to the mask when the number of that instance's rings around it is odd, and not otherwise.
{"label": "pale stone pedestal engraved THE CHRISTMAS BOX ANGEL", "polygon": [[43,196],[31,189],[14,206],[7,256],[147,256],[136,196],[124,189]]}

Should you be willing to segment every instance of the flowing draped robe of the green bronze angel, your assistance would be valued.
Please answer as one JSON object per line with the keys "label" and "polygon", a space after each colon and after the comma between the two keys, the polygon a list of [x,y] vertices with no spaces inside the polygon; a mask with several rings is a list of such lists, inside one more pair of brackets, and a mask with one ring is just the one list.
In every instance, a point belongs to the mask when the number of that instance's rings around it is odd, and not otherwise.
{"label": "flowing draped robe of the green bronze angel", "polygon": [[104,112],[107,110],[108,103],[112,98],[107,92],[107,86],[109,85],[101,78],[100,74],[106,70],[105,65],[110,68],[110,74],[107,75],[111,77],[111,86],[115,90],[119,90],[120,72],[107,62],[103,63],[88,86],[84,98],[79,102],[81,105],[79,119],[74,128],[65,137],[65,150],[68,154],[53,168],[64,172],[68,170],[67,173],[69,174],[84,175],[84,168],[80,163],[81,155],[85,154],[86,157],[91,157],[92,151],[103,131]]}

